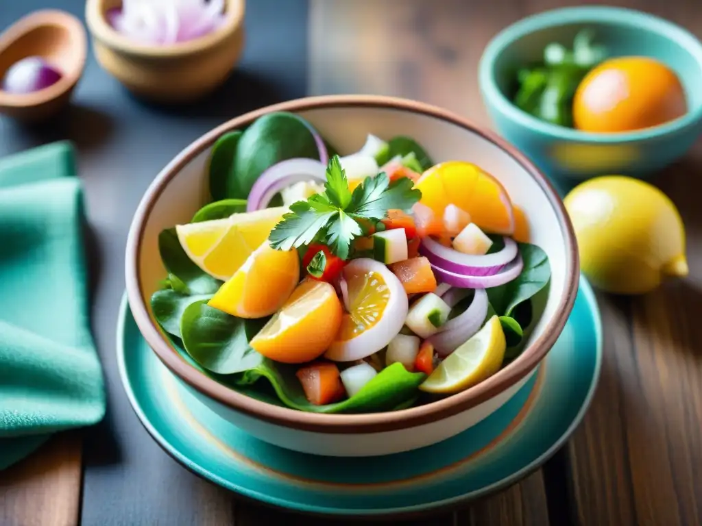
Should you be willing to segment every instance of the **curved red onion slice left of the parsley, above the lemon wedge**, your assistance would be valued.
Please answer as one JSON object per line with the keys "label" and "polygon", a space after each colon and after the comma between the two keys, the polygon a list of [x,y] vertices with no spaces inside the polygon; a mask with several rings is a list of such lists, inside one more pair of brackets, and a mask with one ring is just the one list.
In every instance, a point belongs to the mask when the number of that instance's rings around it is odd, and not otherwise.
{"label": "curved red onion slice left of the parsley, above the lemon wedge", "polygon": [[273,196],[296,182],[326,181],[326,164],[316,159],[287,159],[265,170],[253,183],[246,212],[266,208]]}

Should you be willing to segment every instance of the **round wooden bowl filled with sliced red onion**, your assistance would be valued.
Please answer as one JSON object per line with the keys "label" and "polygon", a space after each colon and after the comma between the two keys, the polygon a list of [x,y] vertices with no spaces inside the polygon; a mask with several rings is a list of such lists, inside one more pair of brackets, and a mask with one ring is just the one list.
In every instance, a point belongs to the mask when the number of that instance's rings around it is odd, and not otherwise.
{"label": "round wooden bowl filled with sliced red onion", "polygon": [[245,0],[88,0],[95,57],[128,90],[160,103],[218,88],[244,48]]}

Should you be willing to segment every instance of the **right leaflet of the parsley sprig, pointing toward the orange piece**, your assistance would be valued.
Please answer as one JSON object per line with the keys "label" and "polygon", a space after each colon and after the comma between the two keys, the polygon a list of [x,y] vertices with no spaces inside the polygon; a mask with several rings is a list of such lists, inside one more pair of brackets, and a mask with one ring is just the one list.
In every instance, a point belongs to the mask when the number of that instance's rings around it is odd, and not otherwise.
{"label": "right leaflet of the parsley sprig, pointing toward the orange piece", "polygon": [[376,177],[366,177],[354,190],[347,212],[354,217],[378,221],[388,215],[390,209],[409,212],[412,205],[422,196],[419,190],[412,188],[413,185],[412,180],[407,177],[391,183],[385,173]]}

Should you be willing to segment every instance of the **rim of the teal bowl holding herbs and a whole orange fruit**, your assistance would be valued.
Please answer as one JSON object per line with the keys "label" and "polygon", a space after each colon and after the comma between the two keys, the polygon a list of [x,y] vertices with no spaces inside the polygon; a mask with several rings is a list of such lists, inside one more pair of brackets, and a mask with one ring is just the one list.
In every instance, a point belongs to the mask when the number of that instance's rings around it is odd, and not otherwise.
{"label": "rim of the teal bowl holding herbs and a whole orange fruit", "polygon": [[565,128],[555,124],[536,119],[512,104],[512,101],[498,88],[494,74],[493,64],[500,53],[511,46],[515,41],[528,34],[558,27],[567,24],[588,24],[604,22],[618,24],[626,27],[636,27],[642,31],[649,31],[665,35],[670,41],[686,49],[697,60],[697,65],[702,69],[702,43],[694,34],[669,20],[659,18],[643,11],[612,6],[574,6],[552,9],[522,18],[499,32],[486,46],[478,64],[478,79],[480,90],[486,100],[522,126],[544,133],[550,137],[562,140],[575,140],[597,144],[625,144],[649,140],[668,133],[677,133],[681,130],[694,128],[702,119],[702,104],[689,110],[683,116],[660,126],[652,126],[644,130],[625,133],[590,133],[580,130]]}

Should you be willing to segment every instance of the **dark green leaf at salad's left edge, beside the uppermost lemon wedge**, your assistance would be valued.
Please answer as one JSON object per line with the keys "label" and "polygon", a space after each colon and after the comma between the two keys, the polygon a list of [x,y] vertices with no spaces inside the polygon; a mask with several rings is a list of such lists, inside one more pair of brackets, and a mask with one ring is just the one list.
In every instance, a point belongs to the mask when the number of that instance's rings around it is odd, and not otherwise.
{"label": "dark green leaf at salad's left edge, beside the uppermost lemon wedge", "polygon": [[[222,282],[207,274],[204,270],[190,261],[185,250],[180,246],[176,229],[166,229],[159,234],[159,252],[161,261],[166,267],[169,282],[179,285],[174,290],[187,294],[214,294]],[[175,278],[175,280],[174,280]]]}

